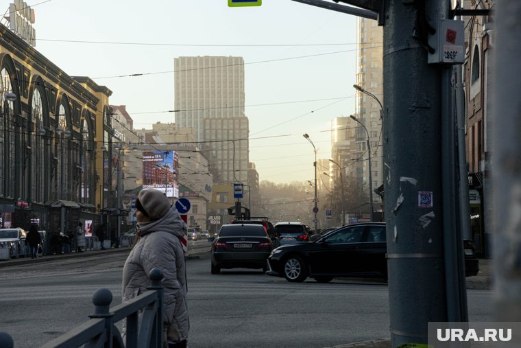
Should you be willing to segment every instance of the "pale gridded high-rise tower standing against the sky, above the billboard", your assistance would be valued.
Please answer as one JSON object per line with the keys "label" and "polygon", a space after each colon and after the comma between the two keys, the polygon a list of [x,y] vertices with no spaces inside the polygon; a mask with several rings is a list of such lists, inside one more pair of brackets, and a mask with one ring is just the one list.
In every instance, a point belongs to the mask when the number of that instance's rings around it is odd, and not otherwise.
{"label": "pale gridded high-rise tower standing against the sky, above the billboard", "polygon": [[215,182],[247,182],[243,58],[179,57],[174,69],[175,123],[195,130]]}

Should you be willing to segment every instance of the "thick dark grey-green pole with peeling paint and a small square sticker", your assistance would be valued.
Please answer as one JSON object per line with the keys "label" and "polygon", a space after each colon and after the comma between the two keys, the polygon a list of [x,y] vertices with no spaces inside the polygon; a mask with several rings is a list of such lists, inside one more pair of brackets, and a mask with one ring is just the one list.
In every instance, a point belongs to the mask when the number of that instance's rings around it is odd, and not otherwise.
{"label": "thick dark grey-green pole with peeling paint and a small square sticker", "polygon": [[383,158],[391,347],[427,343],[447,321],[441,181],[441,74],[429,27],[450,1],[385,0]]}

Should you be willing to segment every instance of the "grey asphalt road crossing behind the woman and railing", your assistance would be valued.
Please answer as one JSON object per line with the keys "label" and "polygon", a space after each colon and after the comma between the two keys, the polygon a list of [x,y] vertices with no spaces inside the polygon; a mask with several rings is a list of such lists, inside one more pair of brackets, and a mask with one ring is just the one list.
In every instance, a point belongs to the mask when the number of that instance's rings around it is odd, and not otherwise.
{"label": "grey asphalt road crossing behind the woman and railing", "polygon": [[[204,248],[206,241],[197,241]],[[194,249],[192,249],[194,250]],[[15,347],[38,347],[88,320],[98,288],[121,303],[126,253],[0,268],[0,330]],[[328,347],[389,337],[385,283],[289,283],[260,270],[210,275],[208,253],[187,261],[191,331],[197,347]],[[471,321],[492,321],[492,292],[470,290]]]}

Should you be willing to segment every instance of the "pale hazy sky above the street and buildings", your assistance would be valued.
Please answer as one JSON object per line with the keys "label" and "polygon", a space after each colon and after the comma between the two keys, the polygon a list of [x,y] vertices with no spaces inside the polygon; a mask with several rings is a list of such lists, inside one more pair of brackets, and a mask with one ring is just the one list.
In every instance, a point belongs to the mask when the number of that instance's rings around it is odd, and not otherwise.
{"label": "pale hazy sky above the street and buildings", "polygon": [[[3,1],[8,8],[10,1]],[[354,113],[355,16],[291,0],[36,0],[36,49],[126,105],[134,128],[175,122],[173,60],[241,56],[250,162],[259,181],[313,180],[330,158],[330,123]],[[129,77],[141,73],[143,76]]]}

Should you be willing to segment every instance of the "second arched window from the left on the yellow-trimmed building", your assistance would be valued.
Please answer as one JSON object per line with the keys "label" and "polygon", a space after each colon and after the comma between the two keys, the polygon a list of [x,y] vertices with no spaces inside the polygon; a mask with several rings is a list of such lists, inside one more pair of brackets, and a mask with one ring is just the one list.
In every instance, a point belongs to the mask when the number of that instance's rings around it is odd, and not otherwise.
{"label": "second arched window from the left on the yellow-trimmed building", "polygon": [[36,88],[32,97],[31,131],[31,192],[34,202],[45,202],[45,128],[43,128],[43,100],[40,89]]}

